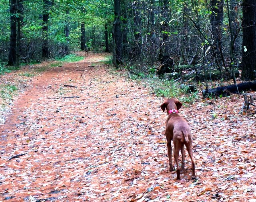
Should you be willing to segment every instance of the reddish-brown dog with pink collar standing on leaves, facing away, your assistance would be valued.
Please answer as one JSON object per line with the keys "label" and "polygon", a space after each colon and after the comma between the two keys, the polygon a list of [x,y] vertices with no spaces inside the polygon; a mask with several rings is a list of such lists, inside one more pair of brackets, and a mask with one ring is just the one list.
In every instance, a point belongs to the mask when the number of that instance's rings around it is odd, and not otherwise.
{"label": "reddish-brown dog with pink collar standing on leaves, facing away", "polygon": [[184,145],[186,145],[188,155],[190,156],[192,162],[192,179],[196,178],[195,174],[195,163],[193,160],[192,152],[192,139],[190,134],[190,129],[188,123],[178,115],[178,110],[182,106],[182,103],[176,99],[167,99],[162,103],[161,109],[164,111],[166,109],[168,118],[166,121],[165,135],[167,139],[167,150],[169,157],[170,171],[173,171],[172,166],[172,143],[174,144],[174,160],[177,165],[177,180],[180,179],[180,166],[179,166],[179,152],[181,150],[181,168],[184,169]]}

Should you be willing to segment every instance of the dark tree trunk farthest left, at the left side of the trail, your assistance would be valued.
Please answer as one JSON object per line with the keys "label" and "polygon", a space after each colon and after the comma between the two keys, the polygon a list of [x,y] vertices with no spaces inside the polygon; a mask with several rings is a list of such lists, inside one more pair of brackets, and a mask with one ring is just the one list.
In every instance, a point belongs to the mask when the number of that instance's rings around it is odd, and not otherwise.
{"label": "dark tree trunk farthest left, at the left side of the trail", "polygon": [[9,51],[9,60],[8,66],[14,66],[16,63],[16,54],[17,54],[17,0],[10,0],[10,51]]}

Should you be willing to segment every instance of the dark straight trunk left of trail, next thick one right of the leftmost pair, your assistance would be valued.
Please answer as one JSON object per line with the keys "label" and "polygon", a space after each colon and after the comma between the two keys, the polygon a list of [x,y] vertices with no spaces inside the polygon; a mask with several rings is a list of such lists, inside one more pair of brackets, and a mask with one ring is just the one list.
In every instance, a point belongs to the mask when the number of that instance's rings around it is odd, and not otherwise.
{"label": "dark straight trunk left of trail, next thick one right of the leftmost pair", "polygon": [[49,18],[50,2],[44,0],[44,14],[43,14],[43,28],[42,28],[42,57],[49,58],[49,45],[48,45],[48,18]]}

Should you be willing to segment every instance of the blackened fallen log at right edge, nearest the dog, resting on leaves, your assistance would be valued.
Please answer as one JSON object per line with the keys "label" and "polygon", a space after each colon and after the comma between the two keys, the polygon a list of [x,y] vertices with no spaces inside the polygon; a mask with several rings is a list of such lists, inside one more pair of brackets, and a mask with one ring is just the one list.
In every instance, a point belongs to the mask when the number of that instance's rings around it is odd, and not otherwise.
{"label": "blackened fallen log at right edge, nearest the dog, resting on leaves", "polygon": [[228,85],[228,86],[220,86],[212,89],[207,89],[203,90],[203,98],[208,97],[209,95],[214,95],[214,96],[227,96],[230,95],[231,93],[242,93],[242,91],[256,91],[256,80],[255,81],[248,81],[244,83],[239,83],[233,84],[233,85]]}

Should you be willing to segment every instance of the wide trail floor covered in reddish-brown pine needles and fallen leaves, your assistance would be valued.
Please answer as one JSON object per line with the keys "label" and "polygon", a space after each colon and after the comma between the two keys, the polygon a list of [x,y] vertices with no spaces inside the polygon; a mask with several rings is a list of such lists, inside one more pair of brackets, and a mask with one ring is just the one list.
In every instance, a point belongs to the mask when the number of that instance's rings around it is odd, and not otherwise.
{"label": "wide trail floor covered in reddish-brown pine needles and fallen leaves", "polygon": [[23,89],[2,111],[0,201],[256,201],[256,122],[240,115],[242,96],[180,109],[197,178],[185,151],[176,180],[168,171],[164,98],[108,67],[105,56],[22,82],[18,75],[30,66],[0,75]]}

